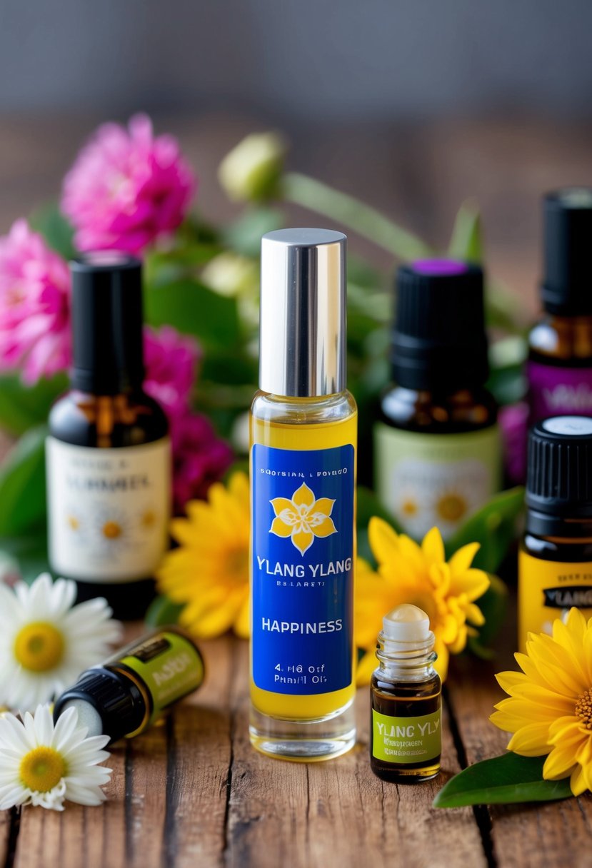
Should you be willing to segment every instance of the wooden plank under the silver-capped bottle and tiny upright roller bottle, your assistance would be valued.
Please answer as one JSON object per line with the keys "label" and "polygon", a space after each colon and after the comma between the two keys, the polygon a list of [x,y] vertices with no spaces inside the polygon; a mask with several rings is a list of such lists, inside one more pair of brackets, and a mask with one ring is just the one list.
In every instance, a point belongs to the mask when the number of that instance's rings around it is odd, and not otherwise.
{"label": "wooden plank under the silver-capped bottle and tiny upright roller bottle", "polygon": [[[473,812],[436,811],[437,789],[458,771],[450,729],[444,727],[443,773],[417,786],[384,783],[370,770],[367,688],[357,699],[358,746],[326,763],[268,759],[248,740],[247,648],[240,648],[234,696],[234,762],[227,864],[245,868],[326,865],[486,865]],[[454,839],[455,853],[443,851]]]}

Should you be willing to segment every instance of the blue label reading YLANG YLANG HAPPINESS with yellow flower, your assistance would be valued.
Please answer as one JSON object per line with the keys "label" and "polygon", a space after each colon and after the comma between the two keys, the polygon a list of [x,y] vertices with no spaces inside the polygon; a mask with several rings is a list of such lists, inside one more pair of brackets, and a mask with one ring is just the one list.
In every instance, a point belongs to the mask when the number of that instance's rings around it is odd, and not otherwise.
{"label": "blue label reading YLANG YLANG HAPPINESS with yellow flower", "polygon": [[279,694],[352,682],[354,450],[253,446],[253,681]]}

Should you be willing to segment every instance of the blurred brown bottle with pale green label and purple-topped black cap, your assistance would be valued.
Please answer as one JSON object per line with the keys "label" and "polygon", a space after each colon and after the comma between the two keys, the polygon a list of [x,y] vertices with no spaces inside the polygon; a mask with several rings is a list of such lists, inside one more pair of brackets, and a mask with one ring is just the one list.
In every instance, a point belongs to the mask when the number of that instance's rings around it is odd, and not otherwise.
{"label": "blurred brown bottle with pale green label and purple-topped black cap", "polygon": [[410,536],[444,539],[499,490],[501,445],[489,374],[483,272],[422,260],[397,275],[391,364],[374,431],[378,496]]}

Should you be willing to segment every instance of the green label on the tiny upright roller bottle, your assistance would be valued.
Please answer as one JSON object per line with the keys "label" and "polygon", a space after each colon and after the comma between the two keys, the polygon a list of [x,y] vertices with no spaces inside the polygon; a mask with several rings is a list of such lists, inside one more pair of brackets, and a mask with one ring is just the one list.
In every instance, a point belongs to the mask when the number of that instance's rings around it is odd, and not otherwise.
{"label": "green label on the tiny upright roller bottle", "polygon": [[393,717],[372,708],[372,756],[383,762],[430,762],[442,751],[440,709],[420,717]]}

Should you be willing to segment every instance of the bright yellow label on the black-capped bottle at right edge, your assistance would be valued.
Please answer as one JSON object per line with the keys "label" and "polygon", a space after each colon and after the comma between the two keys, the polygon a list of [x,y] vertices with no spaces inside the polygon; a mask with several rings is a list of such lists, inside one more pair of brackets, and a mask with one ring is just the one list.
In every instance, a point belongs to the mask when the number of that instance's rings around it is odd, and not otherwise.
{"label": "bright yellow label on the black-capped bottle at right edge", "polygon": [[553,621],[575,606],[592,617],[592,562],[543,561],[528,552],[518,556],[518,650],[529,633],[551,634]]}

